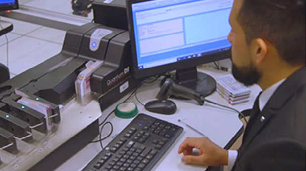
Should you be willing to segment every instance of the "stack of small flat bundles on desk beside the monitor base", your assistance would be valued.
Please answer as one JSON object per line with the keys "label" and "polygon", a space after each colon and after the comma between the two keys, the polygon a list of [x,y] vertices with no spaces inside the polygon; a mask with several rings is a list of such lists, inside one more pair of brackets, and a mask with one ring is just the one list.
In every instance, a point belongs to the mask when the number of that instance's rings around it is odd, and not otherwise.
{"label": "stack of small flat bundles on desk beside the monitor base", "polygon": [[219,78],[217,92],[231,105],[248,102],[251,94],[251,90],[238,82],[232,75]]}

